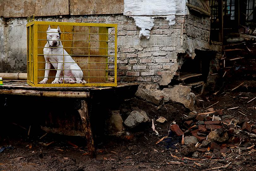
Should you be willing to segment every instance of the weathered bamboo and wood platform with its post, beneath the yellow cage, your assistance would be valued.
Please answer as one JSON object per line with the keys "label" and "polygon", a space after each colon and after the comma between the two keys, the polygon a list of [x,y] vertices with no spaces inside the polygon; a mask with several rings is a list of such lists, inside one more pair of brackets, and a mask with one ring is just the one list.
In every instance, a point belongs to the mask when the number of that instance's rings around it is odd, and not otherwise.
{"label": "weathered bamboo and wood platform with its post, beneath the yellow cage", "polygon": [[[95,157],[94,140],[90,125],[91,99],[107,99],[108,101],[110,98],[119,99],[121,97],[124,99],[125,97],[133,96],[138,88],[137,83],[123,83],[117,87],[32,87],[24,80],[4,80],[3,84],[0,85],[0,97],[18,95],[48,98],[61,97],[67,98],[67,100],[77,98],[81,103],[80,108],[77,109],[82,123],[81,135],[86,136],[91,158]],[[44,100],[44,98],[42,99]],[[65,131],[59,130],[65,135]]]}

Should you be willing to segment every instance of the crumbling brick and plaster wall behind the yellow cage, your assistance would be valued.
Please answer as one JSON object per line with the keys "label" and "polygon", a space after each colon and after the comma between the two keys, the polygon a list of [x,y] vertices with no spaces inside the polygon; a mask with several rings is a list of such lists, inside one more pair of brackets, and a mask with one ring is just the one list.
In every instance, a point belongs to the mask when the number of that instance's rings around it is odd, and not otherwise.
{"label": "crumbling brick and plaster wall behind the yellow cage", "polygon": [[[118,81],[123,82],[168,84],[177,74],[177,54],[187,53],[193,58],[195,49],[211,48],[210,19],[205,16],[176,16],[172,26],[163,17],[156,18],[149,39],[140,39],[140,28],[136,27],[134,19],[122,14],[36,17],[35,20],[118,24]],[[0,21],[0,41],[3,42],[0,45],[0,72],[26,72],[26,19],[1,18]],[[113,69],[113,66],[109,68]]]}

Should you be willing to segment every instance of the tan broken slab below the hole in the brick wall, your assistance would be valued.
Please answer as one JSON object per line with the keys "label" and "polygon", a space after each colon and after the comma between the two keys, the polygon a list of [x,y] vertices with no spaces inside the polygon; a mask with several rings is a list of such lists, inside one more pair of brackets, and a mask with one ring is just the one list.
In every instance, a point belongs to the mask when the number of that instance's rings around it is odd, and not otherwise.
{"label": "tan broken slab below the hole in the brick wall", "polygon": [[193,110],[195,94],[187,86],[176,85],[173,88],[164,88],[163,91],[170,96],[173,102],[182,103],[186,108]]}

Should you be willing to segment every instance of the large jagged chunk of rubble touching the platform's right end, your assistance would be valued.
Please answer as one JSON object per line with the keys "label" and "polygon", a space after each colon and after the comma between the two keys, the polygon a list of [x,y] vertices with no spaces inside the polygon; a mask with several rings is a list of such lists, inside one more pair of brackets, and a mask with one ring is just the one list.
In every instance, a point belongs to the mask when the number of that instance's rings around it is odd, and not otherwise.
{"label": "large jagged chunk of rubble touching the platform's right end", "polygon": [[142,98],[143,100],[154,103],[157,106],[162,105],[164,102],[168,102],[170,100],[170,96],[168,94],[166,94],[164,91],[157,90],[155,85],[150,84],[139,85],[135,95]]}

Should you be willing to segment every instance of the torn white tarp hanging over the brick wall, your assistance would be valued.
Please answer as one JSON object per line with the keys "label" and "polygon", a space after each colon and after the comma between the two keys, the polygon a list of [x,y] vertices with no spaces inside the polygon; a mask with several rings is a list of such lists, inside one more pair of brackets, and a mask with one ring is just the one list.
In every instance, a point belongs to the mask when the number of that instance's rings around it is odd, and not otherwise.
{"label": "torn white tarp hanging over the brick wall", "polygon": [[140,37],[149,39],[149,30],[154,26],[154,18],[165,17],[169,25],[175,24],[175,15],[186,15],[187,0],[124,0],[124,15],[134,18],[141,28]]}

